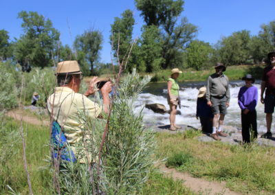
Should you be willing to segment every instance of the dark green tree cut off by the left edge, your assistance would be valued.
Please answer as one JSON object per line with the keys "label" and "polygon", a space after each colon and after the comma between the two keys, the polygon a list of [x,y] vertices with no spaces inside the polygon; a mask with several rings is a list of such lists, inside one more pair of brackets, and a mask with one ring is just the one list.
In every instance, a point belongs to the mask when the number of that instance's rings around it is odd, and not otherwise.
{"label": "dark green tree cut off by the left edge", "polygon": [[6,60],[12,56],[11,44],[9,43],[8,31],[0,30],[0,60]]}

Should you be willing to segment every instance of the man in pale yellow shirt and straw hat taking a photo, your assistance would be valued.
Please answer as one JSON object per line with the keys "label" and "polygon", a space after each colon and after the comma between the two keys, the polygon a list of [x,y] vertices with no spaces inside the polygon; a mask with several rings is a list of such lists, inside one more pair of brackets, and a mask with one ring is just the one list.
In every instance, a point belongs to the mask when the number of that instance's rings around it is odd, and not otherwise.
{"label": "man in pale yellow shirt and straw hat taking a photo", "polygon": [[[59,62],[56,68],[56,78],[58,87],[54,89],[54,93],[47,99],[47,109],[51,114],[51,120],[54,121],[53,124],[61,127],[62,134],[64,133],[65,135],[64,139],[67,139],[65,142],[68,143],[69,148],[72,149],[72,154],[76,154],[77,157],[78,153],[83,154],[83,151],[78,151],[76,145],[83,143],[83,136],[85,136],[83,135],[83,130],[81,130],[83,124],[79,122],[79,114],[85,113],[87,117],[93,119],[102,113],[102,109],[105,113],[108,113],[111,82],[107,82],[100,89],[103,99],[102,108],[87,98],[96,92],[95,85],[99,82],[97,77],[91,79],[86,93],[78,93],[83,76],[76,60]],[[52,137],[52,139],[54,138]],[[70,152],[71,150],[69,153]],[[73,161],[72,158],[66,156],[67,153],[65,152],[64,155],[61,153],[61,159],[64,157],[63,160],[65,161]],[[53,155],[54,158],[58,158],[56,153]],[[87,160],[91,162],[93,160],[91,157],[74,158],[74,160],[76,159],[79,160],[80,163],[85,163]]]}

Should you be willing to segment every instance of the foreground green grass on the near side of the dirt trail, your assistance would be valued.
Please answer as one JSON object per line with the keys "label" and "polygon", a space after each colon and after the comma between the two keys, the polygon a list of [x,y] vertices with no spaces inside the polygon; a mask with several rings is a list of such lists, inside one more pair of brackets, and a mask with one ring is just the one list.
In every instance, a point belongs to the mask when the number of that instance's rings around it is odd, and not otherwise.
{"label": "foreground green grass on the near side of the dirt trail", "polygon": [[[17,194],[29,194],[27,176],[23,165],[21,137],[18,134],[19,128],[19,121],[8,117],[1,118],[0,194],[10,194],[8,185]],[[26,123],[23,123],[23,128],[32,191],[34,194],[53,194],[50,163],[45,161],[50,155],[47,146],[49,128]],[[10,137],[12,132],[15,134]],[[7,147],[3,147],[3,144]],[[139,194],[192,194],[192,192],[184,187],[181,181],[173,181],[170,177],[153,171]]]}

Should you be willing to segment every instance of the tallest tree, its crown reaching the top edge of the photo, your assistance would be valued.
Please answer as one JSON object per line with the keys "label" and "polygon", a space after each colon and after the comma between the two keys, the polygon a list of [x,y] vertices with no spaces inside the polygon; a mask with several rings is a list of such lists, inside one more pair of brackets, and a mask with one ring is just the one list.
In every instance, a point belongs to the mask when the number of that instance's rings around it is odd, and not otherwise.
{"label": "tallest tree, its crown reaching the top edge of the photo", "polygon": [[182,0],[135,0],[146,25],[156,25],[162,31],[162,68],[180,67],[183,51],[197,33],[197,27],[179,16],[184,10]]}

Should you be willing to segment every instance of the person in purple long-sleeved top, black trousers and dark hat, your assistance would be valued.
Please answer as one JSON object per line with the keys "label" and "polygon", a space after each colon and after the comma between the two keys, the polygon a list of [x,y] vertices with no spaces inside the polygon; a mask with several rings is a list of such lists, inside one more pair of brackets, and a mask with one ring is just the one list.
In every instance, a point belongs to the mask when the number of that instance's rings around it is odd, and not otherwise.
{"label": "person in purple long-sleeved top, black trousers and dark hat", "polygon": [[[241,87],[238,95],[238,104],[241,108],[241,135],[243,135],[243,143],[250,143],[251,139],[254,140],[258,136],[255,109],[258,101],[258,89],[253,86],[255,79],[252,75],[247,74],[242,80],[245,81],[245,86]],[[252,130],[251,137],[250,130]]]}

